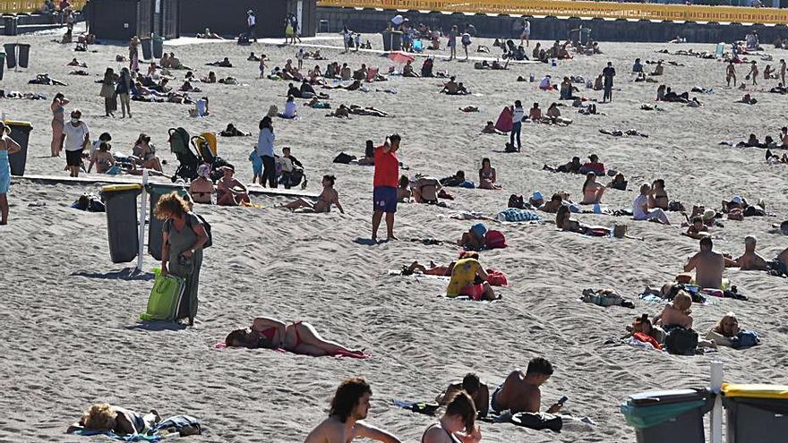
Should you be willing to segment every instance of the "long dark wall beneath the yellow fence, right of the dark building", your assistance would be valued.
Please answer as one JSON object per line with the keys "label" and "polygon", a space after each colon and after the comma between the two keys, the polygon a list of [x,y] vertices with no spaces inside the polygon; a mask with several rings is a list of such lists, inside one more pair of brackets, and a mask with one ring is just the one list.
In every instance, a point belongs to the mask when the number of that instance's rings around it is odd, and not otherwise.
{"label": "long dark wall beneath the yellow fence, right of the dark building", "polygon": [[[377,33],[386,28],[394,11],[375,11],[373,9],[355,10],[352,8],[317,8],[317,20],[328,21],[330,32],[339,32],[347,25],[351,30],[362,33]],[[461,13],[419,13],[410,11],[403,13],[410,21],[425,23],[431,28],[442,28],[444,31],[458,25],[462,30],[466,23],[475,26],[480,37],[516,38],[519,37],[518,17],[508,15],[464,15]],[[758,31],[762,44],[769,44],[775,38],[788,38],[788,27],[784,25],[741,25],[693,22],[652,22],[652,21],[604,21],[602,19],[580,20],[578,18],[558,19],[555,17],[529,18],[531,22],[531,38],[537,40],[565,40],[570,30],[577,29],[580,23],[590,27],[591,38],[598,41],[630,41],[630,42],[667,42],[681,36],[690,43],[718,43],[741,40],[752,30]],[[323,24],[323,27],[325,25]],[[320,25],[319,25],[320,27]]]}

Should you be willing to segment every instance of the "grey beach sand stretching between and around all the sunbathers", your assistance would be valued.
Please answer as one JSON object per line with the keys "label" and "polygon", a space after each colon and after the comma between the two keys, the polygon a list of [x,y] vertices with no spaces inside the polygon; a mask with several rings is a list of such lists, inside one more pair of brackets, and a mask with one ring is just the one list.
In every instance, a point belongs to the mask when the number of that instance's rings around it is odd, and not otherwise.
{"label": "grey beach sand stretching between and around all the sunbathers", "polygon": [[[210,97],[210,116],[193,119],[189,106],[132,102],[133,119],[103,117],[100,80],[107,66],[118,70],[116,54],[124,46],[93,46],[91,52],[73,52],[72,46],[51,42],[54,34],[0,37],[33,44],[28,70],[5,72],[2,88],[36,91],[47,100],[0,100],[8,118],[30,121],[28,174],[65,175],[64,158],[49,158],[51,138],[48,105],[56,92],[72,100],[67,110],[82,109],[93,139],[110,132],[113,151],[128,153],[140,132],[150,134],[158,155],[167,159],[167,174],[177,165],[169,153],[167,128],[184,126],[190,133],[218,132],[234,123],[253,137],[219,138],[219,155],[236,165],[236,176],[252,178],[247,161],[256,142],[257,124],[271,104],[281,110],[287,81],[257,80],[258,68],[246,62],[249,51],[266,54],[270,66],[295,60],[295,47],[206,42],[173,47],[184,64],[198,75],[209,70],[218,77],[233,75],[242,86],[200,84]],[[317,42],[338,46],[336,36]],[[379,45],[378,38],[374,44]],[[485,42],[489,45],[491,42]],[[475,42],[476,43],[476,42]],[[533,47],[535,42],[531,42]],[[550,42],[543,42],[550,45]],[[194,441],[294,442],[326,415],[328,402],[341,379],[363,376],[373,387],[369,422],[391,430],[403,441],[418,441],[432,418],[390,405],[392,398],[431,400],[468,371],[491,385],[500,383],[515,368],[525,369],[535,356],[549,359],[555,368],[544,385],[546,409],[561,396],[569,396],[564,413],[589,416],[598,423],[587,432],[536,431],[510,424],[482,424],[484,441],[633,441],[634,431],[619,412],[630,394],[649,389],[702,387],[708,382],[709,363],[725,364],[724,379],[737,382],[785,383],[785,280],[765,273],[726,271],[748,302],[714,299],[693,306],[695,328],[705,331],[726,311],[735,311],[742,328],[758,331],[763,345],[747,351],[721,349],[715,354],[680,357],[638,350],[629,345],[604,345],[619,338],[624,327],[641,312],[654,316],[658,304],[637,299],[646,285],[662,285],[681,272],[684,262],[698,251],[698,242],[681,236],[681,216],[671,213],[676,226],[633,222],[629,217],[578,215],[589,224],[630,226],[639,240],[592,238],[544,226],[498,225],[509,248],[484,251],[486,268],[509,276],[501,288],[501,302],[478,303],[443,298],[445,281],[434,278],[388,275],[413,260],[447,263],[458,248],[450,244],[427,246],[411,238],[433,237],[454,241],[472,222],[449,216],[461,210],[494,215],[504,209],[511,193],[529,195],[540,190],[570,192],[580,199],[581,175],[542,171],[544,163],[563,163],[572,156],[597,154],[608,168],[623,172],[630,191],[609,190],[604,204],[628,208],[638,184],[664,178],[672,200],[718,207],[720,200],[741,194],[754,202],[763,198],[767,210],[781,217],[724,220],[715,229],[715,247],[734,257],[743,251],[743,239],[755,234],[759,251],[772,258],[788,246],[788,238],[767,234],[769,226],[788,214],[784,165],[768,166],[761,149],[718,146],[719,141],[744,140],[749,132],[773,137],[784,125],[788,111],[780,95],[755,92],[758,105],[734,104],[743,92],[724,88],[724,64],[687,56],[655,54],[694,48],[713,51],[713,45],[656,45],[602,43],[604,55],[576,56],[557,67],[545,64],[512,66],[509,71],[475,71],[472,63],[436,62],[436,69],[458,75],[475,95],[449,97],[437,93],[439,79],[402,79],[367,85],[369,93],[329,91],[330,103],[376,106],[392,118],[354,116],[351,120],[326,118],[324,110],[300,106],[301,118],[275,119],[277,149],[291,146],[306,167],[307,192],[320,191],[320,177],[337,176],[336,188],[346,209],[328,215],[291,214],[272,209],[284,198],[255,198],[264,209],[198,206],[213,226],[214,245],[205,251],[201,271],[200,309],[193,328],[167,324],[146,327],[138,323],[145,310],[152,274],[118,278],[133,264],[113,264],[107,250],[104,214],[70,209],[82,192],[97,192],[98,185],[47,185],[14,180],[9,200],[11,221],[0,227],[0,440],[77,441],[64,435],[66,427],[84,408],[107,401],[115,405],[162,415],[187,413],[203,422],[205,433]],[[166,47],[170,49],[170,47]],[[387,68],[390,62],[376,54],[340,55],[323,49],[330,61]],[[784,52],[775,55],[773,66]],[[441,54],[447,54],[441,51]],[[90,66],[90,76],[66,75],[73,57]],[[204,64],[228,56],[232,69]],[[679,92],[693,86],[714,88],[713,94],[690,94],[704,103],[690,108],[665,103],[664,112],[641,111],[654,103],[654,83],[630,81],[635,57],[674,60],[685,67],[666,66],[658,79]],[[568,127],[523,125],[523,150],[504,154],[508,137],[481,135],[484,122],[497,119],[501,108],[514,99],[526,109],[539,102],[545,110],[557,101],[557,92],[542,92],[537,83],[516,82],[518,75],[545,73],[559,82],[564,75],[593,79],[610,60],[617,69],[613,103],[599,105],[606,115],[578,115],[562,107],[574,120]],[[304,69],[315,64],[304,61]],[[326,61],[317,62],[321,69]],[[766,63],[759,62],[761,68]],[[417,60],[416,66],[421,65]],[[740,80],[746,67],[737,66]],[[647,65],[647,70],[653,69]],[[68,87],[28,85],[37,72],[69,83]],[[180,81],[184,72],[176,72]],[[759,83],[763,80],[759,79]],[[776,81],[769,81],[769,87]],[[580,86],[580,94],[601,99],[602,91]],[[398,94],[376,89],[396,89]],[[464,114],[460,106],[478,106],[478,114]],[[119,113],[117,114],[119,116]],[[600,128],[636,129],[649,138],[613,138]],[[450,209],[401,204],[396,234],[400,241],[370,245],[373,168],[331,163],[339,152],[356,156],[364,141],[380,144],[391,132],[403,141],[398,152],[409,166],[408,175],[443,177],[458,169],[476,181],[482,158],[491,158],[503,190],[450,189],[456,200]],[[607,183],[608,179],[602,180]],[[631,191],[634,190],[634,191]],[[45,206],[30,206],[43,202]],[[544,215],[544,214],[543,214]],[[552,220],[551,215],[544,215]],[[158,266],[150,256],[145,270]],[[610,287],[635,301],[636,309],[602,308],[578,302],[587,287]],[[363,347],[368,360],[313,358],[267,350],[217,350],[231,329],[251,324],[255,316],[309,321],[323,337]],[[85,438],[85,440],[88,440]]]}

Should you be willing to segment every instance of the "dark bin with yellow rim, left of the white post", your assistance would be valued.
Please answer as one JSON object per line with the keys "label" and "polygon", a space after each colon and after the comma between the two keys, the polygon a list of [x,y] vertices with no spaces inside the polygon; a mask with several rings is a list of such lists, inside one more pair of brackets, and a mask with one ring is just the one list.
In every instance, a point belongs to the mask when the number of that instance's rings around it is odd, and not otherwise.
{"label": "dark bin with yellow rim, left of the white post", "polygon": [[137,196],[141,184],[113,184],[101,188],[101,200],[107,206],[109,257],[113,263],[126,263],[137,257]]}

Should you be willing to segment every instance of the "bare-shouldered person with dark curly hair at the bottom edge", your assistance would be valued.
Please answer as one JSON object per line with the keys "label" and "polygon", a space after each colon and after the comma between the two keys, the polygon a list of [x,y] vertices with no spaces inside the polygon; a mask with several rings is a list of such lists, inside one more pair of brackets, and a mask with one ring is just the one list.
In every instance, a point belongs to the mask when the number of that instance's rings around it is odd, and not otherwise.
{"label": "bare-shouldered person with dark curly hair at the bottom edge", "polygon": [[373,390],[364,379],[346,379],[331,399],[329,418],[306,436],[304,443],[350,443],[367,438],[382,443],[401,443],[389,432],[362,422],[370,408]]}

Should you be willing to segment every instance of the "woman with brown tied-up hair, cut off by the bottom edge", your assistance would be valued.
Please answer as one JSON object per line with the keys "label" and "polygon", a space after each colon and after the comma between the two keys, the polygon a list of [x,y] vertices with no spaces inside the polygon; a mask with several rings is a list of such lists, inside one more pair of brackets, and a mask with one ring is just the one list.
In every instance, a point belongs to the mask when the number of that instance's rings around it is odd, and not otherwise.
{"label": "woman with brown tied-up hair, cut off by the bottom edge", "polygon": [[482,432],[475,421],[473,399],[465,391],[459,391],[449,400],[441,419],[424,431],[421,443],[478,443]]}

